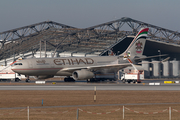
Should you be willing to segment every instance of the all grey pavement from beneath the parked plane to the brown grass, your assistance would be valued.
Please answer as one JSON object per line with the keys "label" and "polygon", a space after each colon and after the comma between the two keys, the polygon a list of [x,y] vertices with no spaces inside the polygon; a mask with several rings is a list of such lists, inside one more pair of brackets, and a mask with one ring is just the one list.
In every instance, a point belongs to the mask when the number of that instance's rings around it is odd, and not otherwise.
{"label": "all grey pavement from beneath the parked plane to the brown grass", "polygon": [[[170,81],[170,80],[169,80]],[[172,80],[173,81],[173,80]],[[179,80],[178,80],[179,81]],[[56,84],[52,84],[55,82]],[[160,85],[149,85],[149,83],[160,83]],[[1,85],[1,83],[7,83]],[[64,82],[64,81],[46,81],[46,84],[35,84],[35,81],[26,83],[25,81],[0,82],[0,90],[180,90],[180,83],[164,84],[164,80],[144,80],[138,84],[125,84],[118,81],[102,81],[96,83],[87,83],[86,81]]]}

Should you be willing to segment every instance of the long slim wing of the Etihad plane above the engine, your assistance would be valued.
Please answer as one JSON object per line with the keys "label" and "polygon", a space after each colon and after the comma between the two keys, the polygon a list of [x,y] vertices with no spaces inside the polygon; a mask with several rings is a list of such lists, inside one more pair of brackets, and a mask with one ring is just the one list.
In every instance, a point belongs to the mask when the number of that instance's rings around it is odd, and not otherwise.
{"label": "long slim wing of the Etihad plane above the engine", "polygon": [[101,69],[122,69],[127,66],[131,66],[130,63],[123,63],[123,64],[109,64],[109,65],[97,65],[97,66],[85,66],[85,67],[73,67],[73,68],[63,68],[61,69],[62,72],[73,72],[76,70],[81,70],[81,69],[88,69],[92,71],[97,71]]}

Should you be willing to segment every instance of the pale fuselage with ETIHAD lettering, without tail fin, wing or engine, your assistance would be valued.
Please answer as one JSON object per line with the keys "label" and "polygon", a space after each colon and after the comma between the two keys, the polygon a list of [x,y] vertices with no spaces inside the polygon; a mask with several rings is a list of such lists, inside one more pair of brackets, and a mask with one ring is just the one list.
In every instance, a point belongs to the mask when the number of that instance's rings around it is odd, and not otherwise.
{"label": "pale fuselage with ETIHAD lettering, without tail fin, wing or engine", "polygon": [[[119,56],[31,58],[18,61],[12,70],[19,74],[71,76],[75,70],[120,62]],[[127,61],[122,60],[121,63]],[[68,69],[67,71],[64,69]],[[63,70],[62,70],[63,69]],[[72,70],[71,70],[72,69]],[[99,72],[115,72],[119,68],[97,69]]]}

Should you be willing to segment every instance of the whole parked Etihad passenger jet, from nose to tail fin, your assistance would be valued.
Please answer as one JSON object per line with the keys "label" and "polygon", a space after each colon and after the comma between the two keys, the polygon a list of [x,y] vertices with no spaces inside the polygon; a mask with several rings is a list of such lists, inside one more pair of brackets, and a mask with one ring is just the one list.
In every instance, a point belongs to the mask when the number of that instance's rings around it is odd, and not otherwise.
{"label": "whole parked Etihad passenger jet, from nose to tail fin", "polygon": [[[23,59],[12,65],[16,73],[39,79],[67,76],[64,81],[96,80],[99,73],[117,73],[142,57],[149,28],[141,29],[124,53],[118,56],[58,57]],[[71,77],[72,76],[72,77]]]}

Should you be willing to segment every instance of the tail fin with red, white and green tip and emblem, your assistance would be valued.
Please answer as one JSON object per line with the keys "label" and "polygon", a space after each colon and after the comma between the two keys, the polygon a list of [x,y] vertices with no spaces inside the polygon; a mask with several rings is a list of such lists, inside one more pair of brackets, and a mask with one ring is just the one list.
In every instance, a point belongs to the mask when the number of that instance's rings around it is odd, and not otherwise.
{"label": "tail fin with red, white and green tip and emblem", "polygon": [[141,56],[143,54],[146,43],[145,38],[147,37],[148,30],[149,28],[142,28],[138,32],[129,47],[123,53],[124,58],[129,58],[130,56]]}

